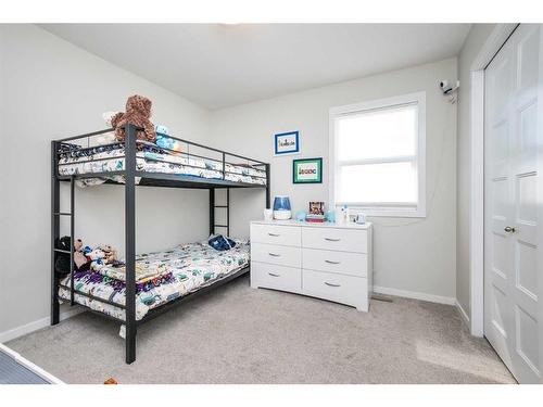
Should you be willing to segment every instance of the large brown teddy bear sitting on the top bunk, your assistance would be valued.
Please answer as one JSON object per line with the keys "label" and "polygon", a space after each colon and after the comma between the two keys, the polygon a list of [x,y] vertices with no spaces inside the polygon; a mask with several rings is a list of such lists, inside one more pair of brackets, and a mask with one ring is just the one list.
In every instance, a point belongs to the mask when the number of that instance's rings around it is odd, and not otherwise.
{"label": "large brown teddy bear sitting on the top bunk", "polygon": [[150,142],[156,141],[156,133],[154,126],[151,123],[151,105],[152,102],[139,94],[128,98],[126,101],[126,112],[117,113],[111,118],[111,124],[115,128],[115,137],[118,141],[125,140],[125,130],[121,127],[132,124],[142,130],[136,131],[138,140],[146,140]]}

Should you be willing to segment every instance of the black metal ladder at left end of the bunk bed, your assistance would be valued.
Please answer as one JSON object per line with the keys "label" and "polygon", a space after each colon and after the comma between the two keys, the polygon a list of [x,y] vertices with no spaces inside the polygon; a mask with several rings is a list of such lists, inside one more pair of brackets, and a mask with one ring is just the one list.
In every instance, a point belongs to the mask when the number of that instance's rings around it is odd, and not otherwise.
{"label": "black metal ladder at left end of the bunk bed", "polygon": [[[75,214],[75,177],[70,177],[70,212],[61,212],[60,209],[60,180],[56,175],[56,164],[59,143],[51,143],[51,155],[53,166],[51,168],[51,325],[59,323],[60,306],[59,306],[59,278],[54,270],[56,254],[70,254],[70,276],[71,276],[71,305],[74,305],[74,214]],[[55,246],[56,240],[60,238],[60,218],[61,216],[70,217],[70,244],[72,250],[65,251]]]}

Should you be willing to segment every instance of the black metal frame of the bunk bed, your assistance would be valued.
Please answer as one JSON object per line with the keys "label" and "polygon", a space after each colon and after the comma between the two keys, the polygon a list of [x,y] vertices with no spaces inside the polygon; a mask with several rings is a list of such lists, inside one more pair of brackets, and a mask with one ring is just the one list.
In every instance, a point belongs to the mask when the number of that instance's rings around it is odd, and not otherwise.
{"label": "black metal frame of the bunk bed", "polygon": [[[60,321],[60,304],[59,304],[59,288],[63,287],[68,290],[71,293],[71,305],[76,305],[74,301],[74,295],[83,295],[88,298],[109,304],[115,306],[119,309],[125,310],[125,320],[119,318],[115,318],[113,316],[106,315],[104,313],[96,311],[89,307],[86,307],[83,304],[77,304],[87,308],[87,310],[92,311],[93,314],[100,315],[106,319],[112,319],[116,322],[124,323],[126,326],[126,335],[125,335],[125,351],[126,351],[126,363],[131,364],[136,360],[136,333],[137,327],[143,322],[147,322],[151,319],[154,319],[159,315],[168,311],[173,307],[186,303],[187,301],[194,298],[201,294],[209,292],[224,283],[240,277],[249,271],[249,266],[237,270],[233,274],[230,274],[224,278],[220,278],[213,282],[210,285],[203,287],[195,292],[189,293],[187,295],[180,296],[172,302],[163,304],[156,308],[149,310],[146,316],[136,320],[136,177],[141,177],[138,186],[149,186],[149,187],[169,187],[169,188],[197,188],[197,189],[207,189],[210,191],[210,233],[215,232],[215,228],[226,228],[227,234],[230,232],[230,188],[260,188],[266,190],[266,207],[269,208],[270,204],[270,191],[269,191],[269,164],[263,163],[257,160],[248,158],[242,155],[228,153],[223,150],[217,150],[214,148],[210,148],[203,144],[199,144],[195,142],[191,142],[184,139],[178,139],[176,137],[171,137],[172,139],[178,140],[187,147],[193,145],[200,149],[209,150],[214,153],[218,153],[222,155],[222,160],[211,158],[202,155],[191,154],[189,153],[189,149],[186,154],[187,156],[194,156],[200,158],[205,158],[214,162],[222,162],[223,166],[223,177],[222,179],[212,179],[212,178],[200,178],[195,176],[187,176],[187,175],[176,175],[176,174],[162,174],[162,173],[150,173],[150,171],[140,171],[137,170],[136,166],[136,153],[137,153],[137,142],[136,142],[136,132],[139,130],[136,126],[128,124],[124,127],[125,130],[125,140],[124,142],[115,142],[109,145],[114,144],[124,144],[125,153],[124,156],[116,156],[115,158],[124,157],[125,160],[125,168],[119,171],[106,171],[106,173],[87,173],[87,174],[76,174],[71,176],[63,176],[59,174],[59,156],[62,153],[65,153],[65,150],[62,150],[62,147],[68,147],[71,149],[85,149],[84,147],[73,144],[74,141],[81,140],[87,138],[88,147],[90,148],[90,137],[99,136],[113,129],[105,129],[94,132],[89,132],[80,136],[68,137],[60,140],[51,141],[51,325],[58,325]],[[168,151],[168,149],[160,148],[159,150]],[[264,167],[266,173],[266,185],[260,183],[247,183],[247,182],[236,182],[226,179],[226,164],[239,165],[235,163],[228,163],[226,161],[226,156],[233,156],[236,158],[245,160],[248,162],[254,163],[251,164],[252,167]],[[147,158],[146,158],[147,160]],[[92,160],[89,160],[89,162]],[[185,164],[184,164],[185,166]],[[190,165],[187,165],[190,166]],[[123,175],[125,177],[125,263],[126,263],[126,289],[125,289],[125,305],[114,303],[104,298],[100,298],[93,296],[91,294],[85,293],[83,291],[78,291],[74,288],[74,253],[72,251],[62,251],[55,247],[55,240],[60,238],[60,217],[68,216],[70,217],[70,236],[71,236],[71,246],[74,246],[74,237],[75,237],[75,181],[81,178],[97,178],[97,177],[111,177],[113,175]],[[70,182],[70,202],[71,209],[70,212],[61,212],[60,211],[60,182],[68,181]],[[112,180],[106,181],[109,183],[118,183]],[[215,205],[215,190],[216,189],[226,189],[226,205]],[[226,208],[226,225],[216,225],[215,224],[215,208]],[[56,277],[54,272],[54,264],[56,260],[58,253],[70,254],[71,259],[71,285],[61,285],[60,279]]]}

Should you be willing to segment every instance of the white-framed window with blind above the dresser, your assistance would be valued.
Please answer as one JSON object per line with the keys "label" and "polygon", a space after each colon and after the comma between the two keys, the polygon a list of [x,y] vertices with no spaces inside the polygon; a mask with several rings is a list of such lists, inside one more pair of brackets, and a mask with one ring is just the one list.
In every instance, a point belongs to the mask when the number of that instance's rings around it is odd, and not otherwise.
{"label": "white-framed window with blind above the dresser", "polygon": [[330,110],[330,203],[426,216],[426,93]]}

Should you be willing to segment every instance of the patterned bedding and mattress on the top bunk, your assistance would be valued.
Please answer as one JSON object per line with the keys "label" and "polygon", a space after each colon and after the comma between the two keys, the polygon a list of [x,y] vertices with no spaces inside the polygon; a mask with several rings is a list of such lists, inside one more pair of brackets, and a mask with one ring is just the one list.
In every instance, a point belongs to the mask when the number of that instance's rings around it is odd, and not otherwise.
{"label": "patterned bedding and mattress on the top bunk", "polygon": [[[147,142],[138,142],[138,145],[140,150],[136,153],[136,169],[139,171],[223,179],[223,163],[220,161],[194,157],[186,153],[169,152]],[[68,150],[60,155],[59,174],[74,175],[124,170],[124,154],[125,149],[123,144]],[[124,181],[122,176],[108,178],[117,182]],[[252,166],[225,163],[225,179],[233,182],[265,186],[266,171]],[[105,182],[105,179],[90,178],[83,179],[78,183],[79,186],[90,186],[102,182]]]}

